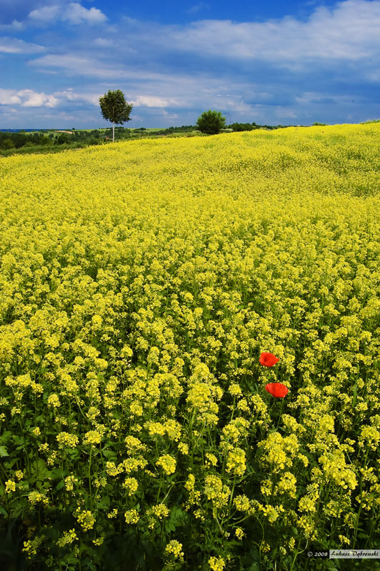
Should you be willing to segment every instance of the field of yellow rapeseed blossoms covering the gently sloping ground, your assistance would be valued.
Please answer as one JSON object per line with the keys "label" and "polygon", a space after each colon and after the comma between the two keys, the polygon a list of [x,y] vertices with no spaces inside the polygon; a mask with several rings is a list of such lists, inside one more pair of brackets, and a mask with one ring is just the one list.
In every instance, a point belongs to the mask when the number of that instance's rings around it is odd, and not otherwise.
{"label": "field of yellow rapeseed blossoms covering the gently sloping ground", "polygon": [[306,553],[379,547],[379,141],[1,159],[6,566],[337,571]]}

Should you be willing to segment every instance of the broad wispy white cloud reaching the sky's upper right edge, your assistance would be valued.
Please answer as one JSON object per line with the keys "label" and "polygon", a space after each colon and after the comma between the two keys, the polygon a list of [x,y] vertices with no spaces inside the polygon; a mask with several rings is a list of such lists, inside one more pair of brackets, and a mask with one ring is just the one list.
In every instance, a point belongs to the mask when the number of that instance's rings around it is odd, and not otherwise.
{"label": "broad wispy white cloud reaching the sky's upper right edge", "polygon": [[264,22],[202,20],[186,26],[125,19],[129,41],[202,58],[271,62],[294,69],[323,61],[358,62],[380,55],[380,1],[346,0],[317,8],[306,21],[293,16]]}

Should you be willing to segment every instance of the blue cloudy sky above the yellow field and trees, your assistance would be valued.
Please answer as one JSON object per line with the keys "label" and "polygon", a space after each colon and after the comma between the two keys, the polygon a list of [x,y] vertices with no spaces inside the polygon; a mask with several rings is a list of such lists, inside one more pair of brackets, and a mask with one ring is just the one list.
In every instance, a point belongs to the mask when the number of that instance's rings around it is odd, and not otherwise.
{"label": "blue cloudy sky above the yellow field and trees", "polygon": [[0,128],[380,118],[380,0],[0,0]]}

